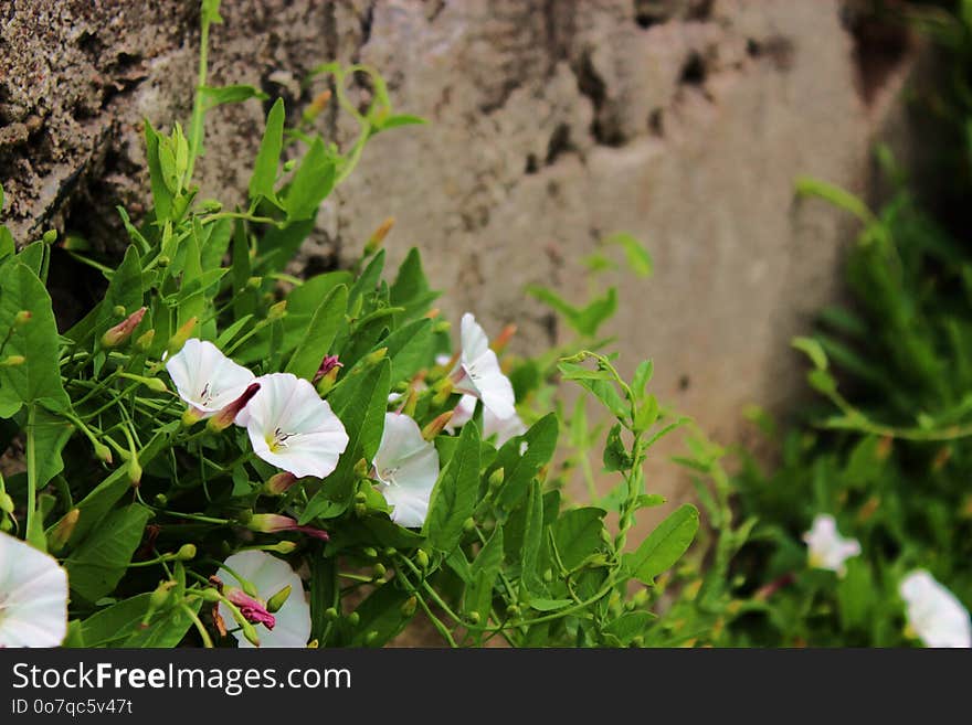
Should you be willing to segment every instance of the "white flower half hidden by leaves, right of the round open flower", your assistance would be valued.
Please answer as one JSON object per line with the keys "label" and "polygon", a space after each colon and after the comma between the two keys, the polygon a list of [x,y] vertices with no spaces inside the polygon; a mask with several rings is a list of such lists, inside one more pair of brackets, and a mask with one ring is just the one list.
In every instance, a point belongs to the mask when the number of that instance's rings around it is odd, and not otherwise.
{"label": "white flower half hidden by leaves, right of the round open flower", "polygon": [[439,478],[439,451],[422,438],[419,424],[406,415],[387,413],[372,463],[377,488],[392,507],[391,520],[401,526],[421,526]]}

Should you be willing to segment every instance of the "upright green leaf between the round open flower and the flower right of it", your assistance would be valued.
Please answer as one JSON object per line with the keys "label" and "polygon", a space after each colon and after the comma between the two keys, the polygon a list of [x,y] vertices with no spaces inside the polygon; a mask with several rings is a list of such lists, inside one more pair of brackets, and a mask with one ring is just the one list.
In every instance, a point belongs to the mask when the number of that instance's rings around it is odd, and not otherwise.
{"label": "upright green leaf between the round open flower and the flower right of it", "polygon": [[391,365],[382,360],[379,365],[349,375],[335,388],[329,402],[348,434],[348,447],[338,459],[338,466],[328,476],[321,489],[314,494],[300,514],[300,523],[314,520],[319,512],[330,507],[331,501],[342,504],[350,502],[355,483],[355,466],[360,459],[372,460],[381,443],[384,429],[384,413],[388,408],[388,393]]}

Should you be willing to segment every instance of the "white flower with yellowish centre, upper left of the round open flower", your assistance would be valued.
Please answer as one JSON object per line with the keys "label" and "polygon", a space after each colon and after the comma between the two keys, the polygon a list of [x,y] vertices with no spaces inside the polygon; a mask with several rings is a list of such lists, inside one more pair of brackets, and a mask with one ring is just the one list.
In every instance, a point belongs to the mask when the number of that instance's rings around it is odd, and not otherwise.
{"label": "white flower with yellowish centre, upper left of the round open flower", "polygon": [[166,370],[190,409],[208,418],[240,397],[254,375],[212,342],[192,338],[166,361]]}

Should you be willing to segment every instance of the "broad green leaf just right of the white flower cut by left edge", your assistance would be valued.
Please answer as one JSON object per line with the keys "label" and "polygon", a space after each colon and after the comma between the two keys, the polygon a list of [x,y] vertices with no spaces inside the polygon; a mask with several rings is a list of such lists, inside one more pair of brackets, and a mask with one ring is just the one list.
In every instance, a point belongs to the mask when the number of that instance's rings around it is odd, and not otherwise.
{"label": "broad green leaf just right of the white flower cut by left edge", "polygon": [[141,541],[150,513],[138,503],[113,511],[104,525],[67,557],[64,567],[75,595],[97,601],[115,589]]}

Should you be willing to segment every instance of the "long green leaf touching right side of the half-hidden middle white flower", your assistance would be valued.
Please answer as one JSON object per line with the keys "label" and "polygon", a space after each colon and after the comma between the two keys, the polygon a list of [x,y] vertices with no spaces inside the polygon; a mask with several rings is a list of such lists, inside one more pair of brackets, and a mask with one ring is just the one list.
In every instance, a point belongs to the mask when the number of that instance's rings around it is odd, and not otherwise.
{"label": "long green leaf touching right side of the half-hidden middle white flower", "polygon": [[479,429],[463,426],[452,459],[435,482],[425,518],[425,535],[439,551],[451,552],[463,537],[463,524],[479,498]]}

